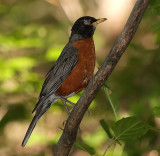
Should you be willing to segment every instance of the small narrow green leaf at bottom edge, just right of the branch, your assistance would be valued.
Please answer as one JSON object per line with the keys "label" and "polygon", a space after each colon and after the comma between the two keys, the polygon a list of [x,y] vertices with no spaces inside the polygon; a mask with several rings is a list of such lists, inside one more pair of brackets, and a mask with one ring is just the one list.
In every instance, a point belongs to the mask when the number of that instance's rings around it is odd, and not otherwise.
{"label": "small narrow green leaf at bottom edge, just right of the branch", "polygon": [[82,141],[76,141],[75,142],[75,146],[85,152],[88,152],[90,155],[94,155],[95,154],[95,149],[89,145],[87,145],[86,143],[82,142]]}

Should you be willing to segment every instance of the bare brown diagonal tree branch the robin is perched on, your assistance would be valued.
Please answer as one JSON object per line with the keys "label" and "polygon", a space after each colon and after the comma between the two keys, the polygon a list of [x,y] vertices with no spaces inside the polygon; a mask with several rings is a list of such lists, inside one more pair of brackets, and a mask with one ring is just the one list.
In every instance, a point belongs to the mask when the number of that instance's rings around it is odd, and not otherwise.
{"label": "bare brown diagonal tree branch the robin is perched on", "polygon": [[132,40],[149,2],[150,0],[137,0],[121,35],[68,117],[54,156],[68,156],[85,112]]}

